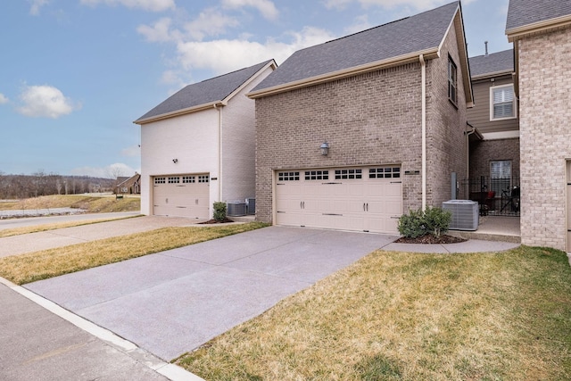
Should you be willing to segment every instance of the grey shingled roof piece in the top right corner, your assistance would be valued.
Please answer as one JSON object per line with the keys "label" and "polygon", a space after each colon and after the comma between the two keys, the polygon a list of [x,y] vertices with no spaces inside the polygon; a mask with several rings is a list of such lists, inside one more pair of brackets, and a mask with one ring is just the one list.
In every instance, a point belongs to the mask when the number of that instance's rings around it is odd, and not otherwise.
{"label": "grey shingled roof piece in the top right corner", "polygon": [[571,0],[509,0],[506,33],[571,15]]}

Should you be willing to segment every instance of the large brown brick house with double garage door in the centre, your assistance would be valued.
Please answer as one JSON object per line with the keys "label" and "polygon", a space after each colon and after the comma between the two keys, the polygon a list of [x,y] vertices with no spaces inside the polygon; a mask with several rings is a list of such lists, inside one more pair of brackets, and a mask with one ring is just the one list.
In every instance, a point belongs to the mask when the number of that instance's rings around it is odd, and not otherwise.
{"label": "large brown brick house with double garage door in the centre", "polygon": [[459,2],[302,49],[248,96],[259,220],[396,233],[468,175]]}

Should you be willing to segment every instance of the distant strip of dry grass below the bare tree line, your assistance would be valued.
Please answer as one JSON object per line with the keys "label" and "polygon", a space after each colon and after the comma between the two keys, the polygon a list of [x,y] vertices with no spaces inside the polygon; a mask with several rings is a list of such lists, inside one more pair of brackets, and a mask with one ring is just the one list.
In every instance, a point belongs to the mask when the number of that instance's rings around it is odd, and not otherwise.
{"label": "distant strip of dry grass below the bare tree line", "polygon": [[88,213],[112,211],[139,211],[141,199],[138,195],[125,196],[116,200],[114,195],[45,195],[13,203],[0,203],[2,211],[29,211],[35,209],[78,208]]}

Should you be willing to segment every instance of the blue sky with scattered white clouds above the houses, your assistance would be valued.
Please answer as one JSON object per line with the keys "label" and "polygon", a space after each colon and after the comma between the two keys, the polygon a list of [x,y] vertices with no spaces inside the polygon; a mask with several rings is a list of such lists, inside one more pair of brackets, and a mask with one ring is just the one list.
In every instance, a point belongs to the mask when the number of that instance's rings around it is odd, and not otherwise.
{"label": "blue sky with scattered white clouds above the houses", "polygon": [[[140,172],[133,120],[188,84],[451,0],[4,0],[0,173]],[[468,55],[511,48],[509,0],[463,0]]]}

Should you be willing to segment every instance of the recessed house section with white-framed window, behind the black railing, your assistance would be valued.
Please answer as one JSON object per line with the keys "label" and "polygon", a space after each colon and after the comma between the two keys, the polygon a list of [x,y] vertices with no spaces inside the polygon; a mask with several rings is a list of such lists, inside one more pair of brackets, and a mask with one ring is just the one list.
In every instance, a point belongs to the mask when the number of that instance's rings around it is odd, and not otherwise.
{"label": "recessed house section with white-framed window, behind the black railing", "polygon": [[489,211],[517,215],[519,204],[509,204],[509,197],[519,189],[514,51],[486,52],[469,62],[476,102],[468,109],[468,124],[473,128],[469,132],[469,181],[461,187],[461,198],[482,202],[492,192],[493,197],[485,200]]}

